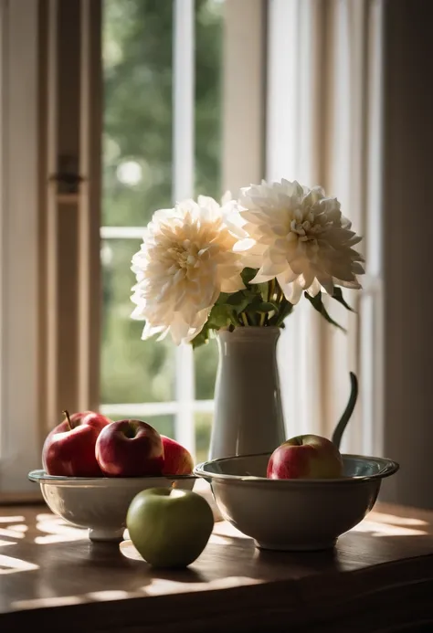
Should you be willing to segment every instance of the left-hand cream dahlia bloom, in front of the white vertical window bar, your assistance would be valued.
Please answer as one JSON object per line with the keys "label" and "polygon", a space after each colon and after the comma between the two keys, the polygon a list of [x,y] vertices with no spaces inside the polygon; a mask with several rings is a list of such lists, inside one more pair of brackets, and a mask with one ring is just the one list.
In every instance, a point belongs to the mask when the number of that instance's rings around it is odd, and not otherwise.
{"label": "left-hand cream dahlia bloom, in front of the white vertical window bar", "polygon": [[245,288],[241,255],[233,249],[244,234],[225,221],[236,206],[201,195],[153,214],[132,258],[132,318],[145,320],[143,339],[170,332],[174,343],[187,343],[202,330],[220,292]]}

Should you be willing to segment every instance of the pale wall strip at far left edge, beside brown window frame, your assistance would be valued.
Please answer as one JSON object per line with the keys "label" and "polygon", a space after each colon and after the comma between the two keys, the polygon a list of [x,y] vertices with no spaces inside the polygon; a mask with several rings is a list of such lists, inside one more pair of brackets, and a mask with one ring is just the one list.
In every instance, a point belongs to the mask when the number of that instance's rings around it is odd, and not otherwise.
{"label": "pale wall strip at far left edge, beside brown window frame", "polygon": [[[0,494],[35,490],[37,3],[0,3]],[[19,72],[16,72],[19,69]]]}

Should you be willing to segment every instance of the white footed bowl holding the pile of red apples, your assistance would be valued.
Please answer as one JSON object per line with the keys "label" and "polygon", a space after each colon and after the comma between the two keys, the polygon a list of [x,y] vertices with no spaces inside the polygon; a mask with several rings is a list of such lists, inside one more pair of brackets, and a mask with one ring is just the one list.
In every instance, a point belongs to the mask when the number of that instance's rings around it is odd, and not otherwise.
{"label": "white footed bowl holding the pile of red apples", "polygon": [[121,541],[126,513],[138,492],[148,488],[193,490],[194,475],[178,477],[56,477],[32,470],[28,479],[40,484],[49,509],[65,521],[89,529],[92,541]]}

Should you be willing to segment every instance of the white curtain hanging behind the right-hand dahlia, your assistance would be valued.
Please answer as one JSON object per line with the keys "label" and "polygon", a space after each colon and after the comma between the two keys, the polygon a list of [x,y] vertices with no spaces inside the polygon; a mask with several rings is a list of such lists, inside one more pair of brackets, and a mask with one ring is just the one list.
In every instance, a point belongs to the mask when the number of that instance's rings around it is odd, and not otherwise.
{"label": "white curtain hanging behind the right-hand dahlia", "polygon": [[330,437],[350,393],[360,396],[345,452],[381,454],[381,50],[376,0],[270,0],[267,174],[322,185],[364,236],[364,290],[346,291],[356,314],[328,307],[347,333],[301,301],[280,342],[288,436]]}

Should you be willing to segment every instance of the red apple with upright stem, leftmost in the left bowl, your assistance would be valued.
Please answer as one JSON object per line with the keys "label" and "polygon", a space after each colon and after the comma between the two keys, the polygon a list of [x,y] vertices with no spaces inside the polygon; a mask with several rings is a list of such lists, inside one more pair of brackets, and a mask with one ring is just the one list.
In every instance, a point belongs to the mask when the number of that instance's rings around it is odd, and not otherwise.
{"label": "red apple with upright stem, leftmost in the left bowl", "polygon": [[65,419],[48,433],[42,448],[42,463],[48,475],[101,477],[95,445],[102,428],[111,424],[96,411],[82,411]]}

